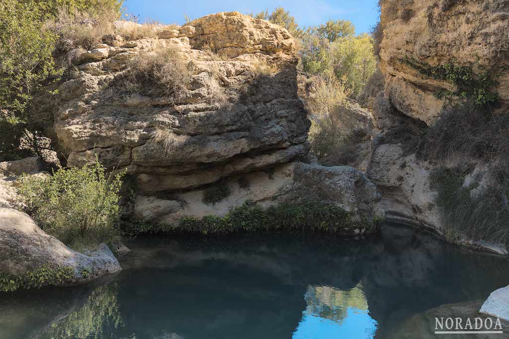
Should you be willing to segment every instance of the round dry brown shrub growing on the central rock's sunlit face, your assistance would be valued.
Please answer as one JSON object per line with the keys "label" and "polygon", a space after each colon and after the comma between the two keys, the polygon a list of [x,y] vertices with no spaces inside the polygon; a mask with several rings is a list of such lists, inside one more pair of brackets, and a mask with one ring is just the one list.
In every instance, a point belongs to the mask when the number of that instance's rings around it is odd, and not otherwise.
{"label": "round dry brown shrub growing on the central rock's sunlit face", "polygon": [[165,96],[174,101],[188,95],[192,72],[176,47],[142,51],[129,61],[128,67],[130,70],[119,85],[130,94]]}

